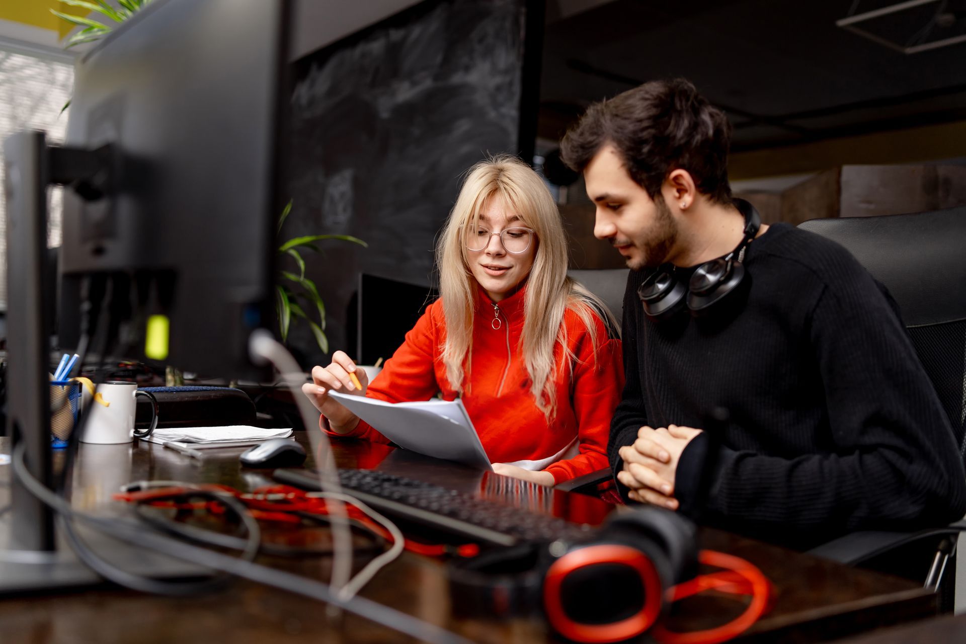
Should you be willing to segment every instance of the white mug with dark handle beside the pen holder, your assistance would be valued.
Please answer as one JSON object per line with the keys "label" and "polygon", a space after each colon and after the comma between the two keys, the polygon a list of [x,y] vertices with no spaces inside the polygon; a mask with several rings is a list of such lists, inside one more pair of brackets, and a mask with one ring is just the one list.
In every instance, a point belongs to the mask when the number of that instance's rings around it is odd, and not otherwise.
{"label": "white mug with dark handle beside the pen holder", "polygon": [[[108,406],[91,401],[84,413],[89,415],[84,423],[81,442],[116,444],[129,443],[134,437],[147,438],[157,427],[157,399],[150,391],[138,391],[137,383],[109,380],[98,385],[98,393]],[[134,431],[134,409],[137,397],[151,399],[151,426],[147,430]]]}

